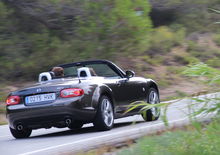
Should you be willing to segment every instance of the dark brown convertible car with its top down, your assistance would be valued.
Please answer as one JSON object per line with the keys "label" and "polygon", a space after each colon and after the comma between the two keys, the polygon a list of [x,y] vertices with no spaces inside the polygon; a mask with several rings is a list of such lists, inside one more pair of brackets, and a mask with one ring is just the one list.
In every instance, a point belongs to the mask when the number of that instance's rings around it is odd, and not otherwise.
{"label": "dark brown convertible car with its top down", "polygon": [[64,75],[43,72],[39,82],[9,94],[7,119],[15,138],[29,137],[33,129],[69,127],[79,129],[93,123],[110,130],[114,119],[142,114],[144,120],[159,118],[158,108],[125,113],[136,101],[159,103],[159,90],[152,79],[135,77],[107,60],[59,65]]}

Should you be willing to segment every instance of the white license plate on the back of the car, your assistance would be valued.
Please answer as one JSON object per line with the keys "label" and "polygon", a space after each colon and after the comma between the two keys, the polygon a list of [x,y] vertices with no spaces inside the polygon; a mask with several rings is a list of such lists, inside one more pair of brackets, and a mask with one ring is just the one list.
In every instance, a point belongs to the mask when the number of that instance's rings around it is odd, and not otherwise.
{"label": "white license plate on the back of the car", "polygon": [[48,101],[54,101],[55,99],[56,99],[55,93],[40,94],[40,95],[27,96],[25,98],[25,103],[26,104],[44,103]]}

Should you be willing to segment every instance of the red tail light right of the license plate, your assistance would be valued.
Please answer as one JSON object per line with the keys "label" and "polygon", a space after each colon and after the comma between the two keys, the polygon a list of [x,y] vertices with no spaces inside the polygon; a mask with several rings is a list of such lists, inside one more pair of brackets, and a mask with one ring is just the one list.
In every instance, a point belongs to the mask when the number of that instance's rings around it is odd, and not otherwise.
{"label": "red tail light right of the license plate", "polygon": [[68,88],[63,89],[60,92],[60,96],[63,98],[69,98],[69,97],[77,97],[82,96],[84,94],[83,89],[80,88]]}

